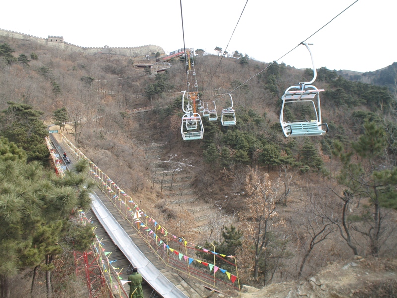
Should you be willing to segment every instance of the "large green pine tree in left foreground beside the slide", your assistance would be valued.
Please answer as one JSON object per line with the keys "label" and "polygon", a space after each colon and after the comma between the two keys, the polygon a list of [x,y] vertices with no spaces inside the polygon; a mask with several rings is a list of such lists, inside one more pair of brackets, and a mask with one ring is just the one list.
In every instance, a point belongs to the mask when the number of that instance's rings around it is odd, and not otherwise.
{"label": "large green pine tree in left foreground beside the slide", "polygon": [[[93,239],[89,226],[70,221],[78,208],[88,208],[92,184],[84,170],[60,178],[39,162],[26,163],[16,155],[0,158],[1,297],[10,297],[10,277],[39,265],[46,271],[47,297],[51,297],[52,261],[61,247],[72,249],[75,242],[79,249],[87,249]],[[87,170],[80,162],[77,168]],[[68,240],[71,235],[74,241]]]}

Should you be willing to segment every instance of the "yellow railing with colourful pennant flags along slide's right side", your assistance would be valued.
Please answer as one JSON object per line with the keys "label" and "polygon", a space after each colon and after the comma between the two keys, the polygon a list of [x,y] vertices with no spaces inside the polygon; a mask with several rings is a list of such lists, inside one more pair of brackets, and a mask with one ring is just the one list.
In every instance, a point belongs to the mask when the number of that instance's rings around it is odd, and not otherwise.
{"label": "yellow railing with colourful pennant flags along slide's right side", "polygon": [[[77,149],[63,134],[61,139],[66,145],[65,148],[74,154],[76,159],[89,161],[91,178],[106,195],[107,199],[125,218],[130,226],[143,239],[147,246],[173,270],[186,274],[189,277],[198,279],[210,287],[218,289],[233,288],[240,291],[238,279],[237,260],[234,256],[226,256],[214,251],[205,249],[186,241],[167,231],[157,221],[147,215],[146,211],[138,205],[116,185],[99,167],[89,160],[79,149]],[[202,260],[200,255],[207,257]],[[213,258],[213,263],[207,262]],[[223,269],[220,266],[227,268]],[[232,274],[231,272],[235,272]],[[237,281],[237,283],[235,283]]]}

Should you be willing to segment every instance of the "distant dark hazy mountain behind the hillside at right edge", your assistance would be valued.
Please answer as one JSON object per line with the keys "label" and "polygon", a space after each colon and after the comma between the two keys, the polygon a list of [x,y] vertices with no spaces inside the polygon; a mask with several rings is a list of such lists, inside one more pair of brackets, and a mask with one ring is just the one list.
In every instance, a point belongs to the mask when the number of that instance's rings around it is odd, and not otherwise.
{"label": "distant dark hazy mountain behind the hillside at right edge", "polygon": [[378,86],[387,86],[389,89],[395,89],[397,83],[397,62],[393,62],[393,64],[374,72],[360,73],[340,70],[336,73],[351,81],[360,81]]}

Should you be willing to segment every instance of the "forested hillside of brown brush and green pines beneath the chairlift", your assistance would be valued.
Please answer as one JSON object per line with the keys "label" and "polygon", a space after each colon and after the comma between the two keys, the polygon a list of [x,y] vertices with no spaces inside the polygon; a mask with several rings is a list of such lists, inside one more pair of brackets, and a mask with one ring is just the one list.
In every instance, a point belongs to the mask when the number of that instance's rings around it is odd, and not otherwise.
{"label": "forested hillside of brown brush and green pines beneath the chairlift", "polygon": [[[223,58],[219,66],[218,56],[194,57],[201,100],[211,103],[269,66],[236,56]],[[322,67],[314,84],[325,89],[322,117],[329,132],[286,138],[279,123],[281,96],[287,87],[310,81],[313,73],[274,63],[233,92],[235,127],[225,129],[203,117],[204,139],[184,142],[184,58],[159,74],[135,67],[136,62],[0,37],[0,110],[23,104],[41,111],[46,124],[61,125],[85,155],[164,226],[178,228],[191,242],[236,255],[242,283],[298,279],[354,255],[395,257],[395,92]],[[150,112],[130,113],[149,105],[155,106]],[[220,100],[216,106],[220,110],[227,103]],[[311,111],[296,107],[287,114],[294,120],[310,117]],[[8,129],[12,121],[3,113],[1,136],[21,148],[30,146],[16,137],[16,129]],[[69,125],[63,127],[64,122]],[[154,186],[153,161],[147,158],[152,143],[165,144],[160,160],[191,166],[199,198],[221,216],[232,215],[232,225],[214,224],[213,232],[198,233],[183,206],[173,212],[165,208],[162,189]],[[29,158],[43,160],[42,155]]]}

